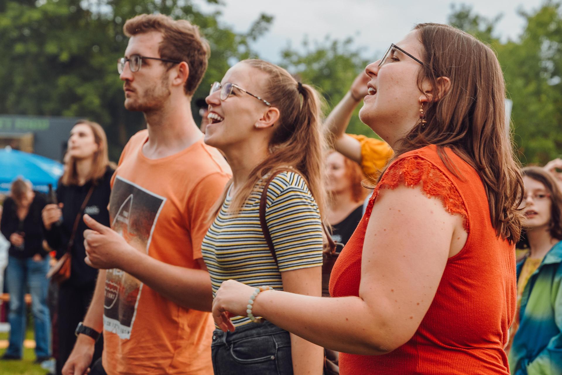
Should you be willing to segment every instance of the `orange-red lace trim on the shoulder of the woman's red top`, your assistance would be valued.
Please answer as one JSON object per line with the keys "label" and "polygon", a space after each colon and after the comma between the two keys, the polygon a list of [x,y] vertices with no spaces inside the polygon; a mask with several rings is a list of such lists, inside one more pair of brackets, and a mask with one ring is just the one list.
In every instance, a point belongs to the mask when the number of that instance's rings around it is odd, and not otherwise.
{"label": "orange-red lace trim on the shoulder of the woman's red top", "polygon": [[459,191],[442,171],[418,156],[405,157],[389,166],[374,189],[365,215],[371,216],[380,188],[393,189],[401,183],[407,187],[420,186],[428,197],[440,198],[449,213],[463,215],[463,227],[468,232],[468,214]]}

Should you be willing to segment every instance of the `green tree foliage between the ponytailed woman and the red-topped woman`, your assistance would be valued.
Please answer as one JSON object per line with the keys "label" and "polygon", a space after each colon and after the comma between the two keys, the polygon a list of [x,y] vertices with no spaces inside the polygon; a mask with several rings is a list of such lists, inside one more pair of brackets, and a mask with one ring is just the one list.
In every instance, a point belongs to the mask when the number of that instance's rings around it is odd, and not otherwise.
{"label": "green tree foliage between the ponytailed woman and the red-topped woman", "polygon": [[[325,114],[343,98],[353,79],[369,64],[361,55],[361,49],[353,45],[353,39],[343,41],[326,37],[322,42],[311,43],[307,38],[302,42],[302,51],[286,47],[282,51],[280,65],[303,83],[312,84],[319,90],[326,102]],[[348,133],[377,135],[359,120],[357,107],[347,128]]]}

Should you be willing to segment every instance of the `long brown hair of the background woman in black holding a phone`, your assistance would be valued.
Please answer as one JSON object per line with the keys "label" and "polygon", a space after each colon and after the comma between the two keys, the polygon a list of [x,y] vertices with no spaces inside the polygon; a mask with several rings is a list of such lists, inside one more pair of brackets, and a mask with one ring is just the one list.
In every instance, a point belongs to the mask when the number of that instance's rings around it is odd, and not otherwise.
{"label": "long brown hair of the background woman in black holding a phone", "polygon": [[[107,156],[107,137],[102,126],[98,123],[94,123],[94,121],[78,120],[74,126],[78,124],[88,125],[90,129],[92,129],[94,141],[98,145],[98,150],[94,152],[90,175],[86,178],[87,181],[91,180],[93,183],[96,183],[97,180],[101,179],[106,173],[107,165],[109,165],[109,159]],[[65,156],[65,171],[62,175],[61,182],[67,186],[79,184],[78,171],[76,171],[76,159],[72,156]]]}

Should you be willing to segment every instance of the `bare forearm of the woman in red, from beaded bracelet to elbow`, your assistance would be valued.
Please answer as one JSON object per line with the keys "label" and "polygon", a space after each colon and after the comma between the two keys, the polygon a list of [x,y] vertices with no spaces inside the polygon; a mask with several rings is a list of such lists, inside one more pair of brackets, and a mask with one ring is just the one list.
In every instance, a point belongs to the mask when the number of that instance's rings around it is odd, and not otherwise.
{"label": "bare forearm of the woman in red, from beaded bracelet to elbow", "polygon": [[321,347],[377,355],[394,349],[382,313],[360,297],[324,298],[280,291],[260,293],[253,313]]}

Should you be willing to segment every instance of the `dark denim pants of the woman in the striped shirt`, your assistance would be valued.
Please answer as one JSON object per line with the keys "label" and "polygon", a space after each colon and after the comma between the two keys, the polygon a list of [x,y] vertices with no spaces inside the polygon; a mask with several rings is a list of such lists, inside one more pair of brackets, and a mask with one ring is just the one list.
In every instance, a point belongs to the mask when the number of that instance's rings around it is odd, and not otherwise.
{"label": "dark denim pants of the woman in the striped shirt", "polygon": [[292,375],[291,337],[273,323],[248,323],[234,332],[215,329],[211,344],[215,375]]}

